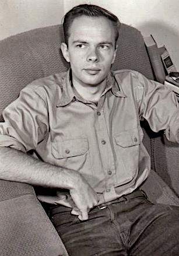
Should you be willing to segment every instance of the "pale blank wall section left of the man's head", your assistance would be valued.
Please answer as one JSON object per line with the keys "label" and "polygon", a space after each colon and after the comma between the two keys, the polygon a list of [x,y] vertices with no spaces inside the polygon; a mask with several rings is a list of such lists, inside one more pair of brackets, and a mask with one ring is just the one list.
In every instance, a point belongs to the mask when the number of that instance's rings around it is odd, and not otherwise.
{"label": "pale blank wall section left of the man's head", "polygon": [[0,0],[0,40],[61,23],[64,0]]}

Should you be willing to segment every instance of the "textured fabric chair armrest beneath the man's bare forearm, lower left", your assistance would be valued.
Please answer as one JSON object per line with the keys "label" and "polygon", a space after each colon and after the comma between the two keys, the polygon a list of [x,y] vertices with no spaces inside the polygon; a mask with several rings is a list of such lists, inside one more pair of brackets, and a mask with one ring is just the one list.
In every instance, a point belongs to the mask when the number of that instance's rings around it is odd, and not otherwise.
{"label": "textured fabric chair armrest beneath the man's bare forearm, lower left", "polygon": [[0,208],[0,255],[68,255],[31,185],[0,180]]}

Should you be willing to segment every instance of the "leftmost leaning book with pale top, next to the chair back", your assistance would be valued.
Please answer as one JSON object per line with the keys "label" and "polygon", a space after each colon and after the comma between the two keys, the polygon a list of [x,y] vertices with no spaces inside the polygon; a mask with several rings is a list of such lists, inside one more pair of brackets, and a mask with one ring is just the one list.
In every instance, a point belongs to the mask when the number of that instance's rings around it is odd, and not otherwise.
{"label": "leftmost leaning book with pale top, next to the chair back", "polygon": [[143,37],[143,40],[145,41],[146,50],[148,51],[150,64],[152,66],[155,79],[157,82],[164,83],[166,73],[164,71],[164,66],[159,54],[159,49],[157,48],[156,41],[153,39],[152,35]]}

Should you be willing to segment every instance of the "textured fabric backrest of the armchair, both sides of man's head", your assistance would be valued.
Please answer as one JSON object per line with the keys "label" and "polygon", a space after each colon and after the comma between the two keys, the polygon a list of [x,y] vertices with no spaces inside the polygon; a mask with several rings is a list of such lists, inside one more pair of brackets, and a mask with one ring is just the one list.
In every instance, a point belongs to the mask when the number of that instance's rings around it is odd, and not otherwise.
{"label": "textured fabric backrest of the armchair, both sides of man's head", "polygon": [[[27,31],[0,42],[0,115],[25,85],[69,68],[59,50],[62,40],[62,27],[50,26]],[[118,45],[114,70],[134,69],[150,79],[153,78],[145,45],[138,30],[122,24]]]}

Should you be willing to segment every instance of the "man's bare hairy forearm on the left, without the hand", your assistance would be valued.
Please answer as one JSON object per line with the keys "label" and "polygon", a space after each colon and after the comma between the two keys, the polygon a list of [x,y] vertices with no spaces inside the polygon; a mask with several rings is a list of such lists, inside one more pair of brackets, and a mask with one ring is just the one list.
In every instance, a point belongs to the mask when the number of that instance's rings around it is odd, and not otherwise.
{"label": "man's bare hairy forearm on the left, without the hand", "polygon": [[71,190],[80,181],[76,171],[61,169],[11,148],[0,148],[0,178]]}

